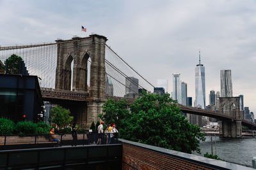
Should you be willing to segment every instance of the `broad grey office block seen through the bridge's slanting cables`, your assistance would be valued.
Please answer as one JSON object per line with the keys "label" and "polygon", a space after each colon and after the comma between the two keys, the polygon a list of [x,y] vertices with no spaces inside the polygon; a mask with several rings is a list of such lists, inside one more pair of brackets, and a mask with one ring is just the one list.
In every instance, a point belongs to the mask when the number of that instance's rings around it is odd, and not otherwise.
{"label": "broad grey office block seen through the bridge's slanting cables", "polygon": [[139,80],[134,77],[125,78],[125,96],[127,98],[137,98],[139,92]]}

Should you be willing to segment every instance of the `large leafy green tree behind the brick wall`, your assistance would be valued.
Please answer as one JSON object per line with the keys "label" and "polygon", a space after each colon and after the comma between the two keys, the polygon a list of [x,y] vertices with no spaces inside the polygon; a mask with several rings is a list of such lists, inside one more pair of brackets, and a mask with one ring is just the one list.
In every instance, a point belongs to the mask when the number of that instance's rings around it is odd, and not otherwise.
{"label": "large leafy green tree behind the brick wall", "polygon": [[117,103],[108,99],[103,111],[105,115],[99,117],[104,122],[117,122],[123,139],[186,153],[200,152],[199,143],[205,140],[198,125],[189,124],[169,94],[144,92],[130,105],[130,111],[125,99]]}

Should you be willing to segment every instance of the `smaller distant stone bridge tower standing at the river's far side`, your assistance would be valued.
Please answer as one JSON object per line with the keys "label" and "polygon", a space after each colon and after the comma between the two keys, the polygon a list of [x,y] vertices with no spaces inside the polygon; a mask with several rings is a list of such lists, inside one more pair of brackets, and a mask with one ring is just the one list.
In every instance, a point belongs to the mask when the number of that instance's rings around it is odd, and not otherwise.
{"label": "smaller distant stone bridge tower standing at the river's far side", "polygon": [[242,122],[244,119],[244,111],[240,110],[239,97],[220,97],[219,110],[231,117],[234,120],[218,121],[220,124],[220,137],[221,138],[242,138]]}

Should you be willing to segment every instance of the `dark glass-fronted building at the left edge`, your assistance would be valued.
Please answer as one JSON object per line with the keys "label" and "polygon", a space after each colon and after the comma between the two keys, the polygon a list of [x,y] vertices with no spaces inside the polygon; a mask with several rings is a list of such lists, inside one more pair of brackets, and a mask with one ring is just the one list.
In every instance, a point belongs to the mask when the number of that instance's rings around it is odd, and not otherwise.
{"label": "dark glass-fronted building at the left edge", "polygon": [[43,105],[37,76],[0,74],[0,117],[34,122]]}

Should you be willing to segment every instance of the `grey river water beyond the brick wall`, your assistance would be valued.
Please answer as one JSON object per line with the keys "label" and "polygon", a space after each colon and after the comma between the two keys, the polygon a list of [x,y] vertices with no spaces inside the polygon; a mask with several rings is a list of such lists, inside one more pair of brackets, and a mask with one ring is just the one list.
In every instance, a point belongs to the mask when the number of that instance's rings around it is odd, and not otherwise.
{"label": "grey river water beyond the brick wall", "polygon": [[[201,154],[211,153],[211,137],[206,136],[204,142],[200,143]],[[212,136],[212,151],[215,154],[215,139]],[[221,159],[241,165],[252,166],[252,159],[256,157],[256,138],[223,139],[216,136],[216,153]]]}

